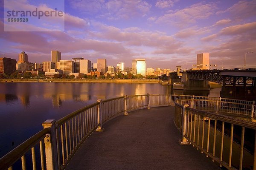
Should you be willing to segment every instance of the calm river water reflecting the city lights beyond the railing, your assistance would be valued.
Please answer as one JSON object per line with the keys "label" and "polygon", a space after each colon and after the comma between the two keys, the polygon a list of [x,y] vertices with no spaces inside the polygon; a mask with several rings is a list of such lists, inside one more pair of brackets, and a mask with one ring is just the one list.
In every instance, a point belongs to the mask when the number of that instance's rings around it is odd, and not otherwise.
{"label": "calm river water reflecting the city lights beyond the railing", "polygon": [[219,96],[210,91],[172,91],[157,83],[0,83],[0,157],[37,133],[47,119],[60,119],[97,99],[138,94]]}

